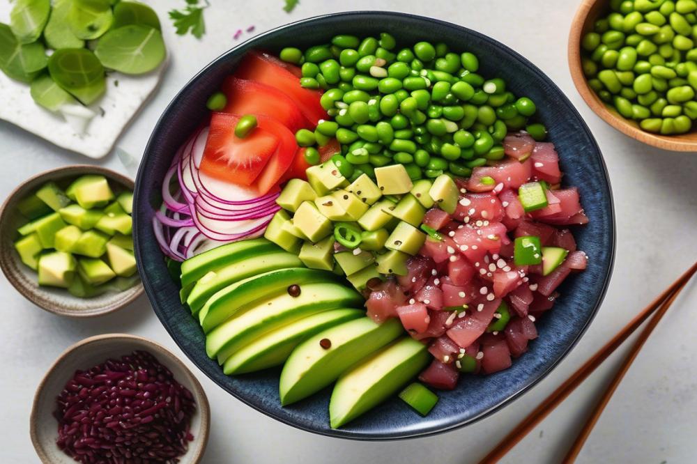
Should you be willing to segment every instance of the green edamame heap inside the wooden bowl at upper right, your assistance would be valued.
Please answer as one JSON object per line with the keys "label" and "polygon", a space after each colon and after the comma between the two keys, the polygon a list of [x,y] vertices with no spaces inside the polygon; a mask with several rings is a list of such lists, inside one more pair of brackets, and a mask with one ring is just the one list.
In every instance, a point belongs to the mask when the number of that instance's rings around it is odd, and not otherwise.
{"label": "green edamame heap inside the wooden bowl at upper right", "polygon": [[684,134],[697,118],[697,1],[611,0],[583,37],[588,85],[648,132]]}

